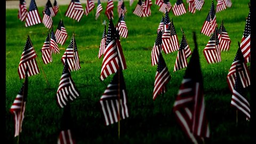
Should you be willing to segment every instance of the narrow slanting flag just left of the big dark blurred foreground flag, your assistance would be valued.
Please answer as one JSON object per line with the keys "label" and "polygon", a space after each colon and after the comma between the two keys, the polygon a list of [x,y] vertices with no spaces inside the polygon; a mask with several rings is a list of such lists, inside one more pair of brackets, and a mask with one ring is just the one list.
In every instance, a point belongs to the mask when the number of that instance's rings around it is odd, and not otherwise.
{"label": "narrow slanting flag just left of the big dark blurred foreground flag", "polygon": [[166,67],[166,63],[165,63],[163,55],[160,51],[159,56],[158,56],[158,65],[157,65],[157,69],[156,69],[153,100],[156,99],[158,94],[165,93],[166,84],[170,80],[171,80],[171,75],[169,73],[168,68]]}

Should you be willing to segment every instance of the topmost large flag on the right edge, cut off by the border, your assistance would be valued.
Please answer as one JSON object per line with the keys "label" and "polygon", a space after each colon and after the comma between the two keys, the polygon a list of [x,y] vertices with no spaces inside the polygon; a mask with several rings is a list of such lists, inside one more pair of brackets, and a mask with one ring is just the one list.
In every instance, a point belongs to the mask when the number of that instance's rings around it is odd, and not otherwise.
{"label": "topmost large flag on the right edge, cut off by the border", "polygon": [[245,62],[250,62],[250,55],[251,55],[251,19],[250,19],[251,12],[249,11],[248,17],[246,19],[246,25],[244,28],[244,34],[242,37],[240,49],[244,55]]}

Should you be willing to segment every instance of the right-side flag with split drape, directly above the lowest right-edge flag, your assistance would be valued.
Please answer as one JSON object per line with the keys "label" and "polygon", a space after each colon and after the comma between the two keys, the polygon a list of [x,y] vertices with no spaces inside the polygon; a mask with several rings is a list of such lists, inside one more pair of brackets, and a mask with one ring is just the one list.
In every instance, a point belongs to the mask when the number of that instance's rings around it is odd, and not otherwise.
{"label": "right-side flag with split drape, directly above the lowest right-edge flag", "polygon": [[[239,45],[239,44],[238,44]],[[236,52],[236,57],[232,62],[232,65],[229,69],[228,76],[227,76],[227,83],[229,86],[229,90],[232,92],[236,82],[236,66],[238,67],[238,73],[243,84],[243,87],[247,87],[251,84],[250,81],[250,73],[249,69],[247,68],[246,62],[244,60],[242,51],[238,48]]]}

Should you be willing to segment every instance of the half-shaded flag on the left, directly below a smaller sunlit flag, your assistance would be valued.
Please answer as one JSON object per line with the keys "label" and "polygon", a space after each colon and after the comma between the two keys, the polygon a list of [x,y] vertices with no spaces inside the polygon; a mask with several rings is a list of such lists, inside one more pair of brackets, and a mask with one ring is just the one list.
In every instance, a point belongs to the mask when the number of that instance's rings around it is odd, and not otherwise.
{"label": "half-shaded flag on the left, directly below a smaller sunlit flag", "polygon": [[[63,67],[62,75],[60,78],[60,84],[56,94],[57,105],[63,108],[69,101],[73,101],[79,97],[79,91],[71,78],[68,66],[68,53],[66,53],[65,65]],[[62,60],[63,61],[63,60]]]}

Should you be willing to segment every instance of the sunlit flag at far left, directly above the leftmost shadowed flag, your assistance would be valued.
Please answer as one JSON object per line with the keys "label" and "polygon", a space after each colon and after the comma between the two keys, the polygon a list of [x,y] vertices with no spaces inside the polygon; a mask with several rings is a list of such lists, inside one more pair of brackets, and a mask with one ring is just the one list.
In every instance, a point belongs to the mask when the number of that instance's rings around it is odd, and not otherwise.
{"label": "sunlit flag at far left, directly above the leftmost shadowed flag", "polygon": [[28,76],[39,74],[36,57],[37,54],[28,36],[18,67],[18,74],[20,76],[20,79],[25,78],[26,70],[28,70]]}

